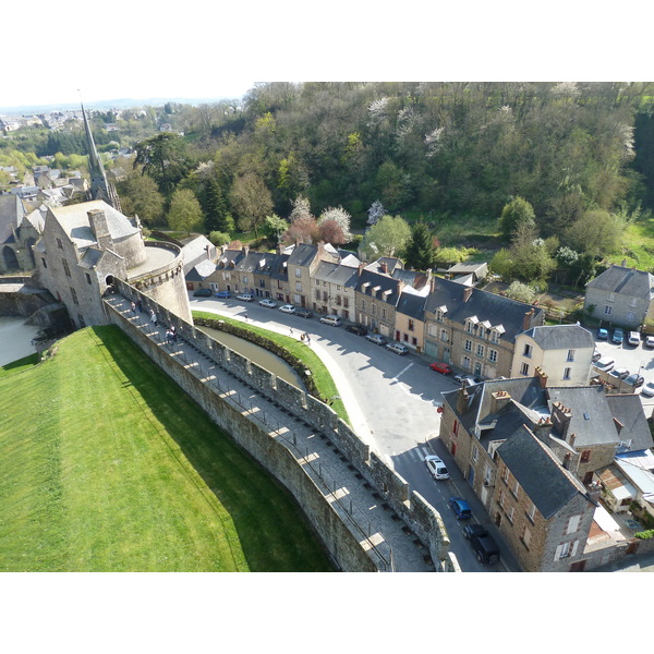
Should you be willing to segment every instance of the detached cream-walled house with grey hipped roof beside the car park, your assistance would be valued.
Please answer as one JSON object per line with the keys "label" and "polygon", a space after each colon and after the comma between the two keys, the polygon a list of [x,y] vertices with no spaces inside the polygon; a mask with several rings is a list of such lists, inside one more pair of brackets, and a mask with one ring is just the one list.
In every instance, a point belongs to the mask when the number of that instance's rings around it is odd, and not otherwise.
{"label": "detached cream-walled house with grey hipped roof beside the car park", "polygon": [[541,325],[516,337],[511,377],[532,376],[538,367],[557,386],[588,386],[595,341],[580,325]]}

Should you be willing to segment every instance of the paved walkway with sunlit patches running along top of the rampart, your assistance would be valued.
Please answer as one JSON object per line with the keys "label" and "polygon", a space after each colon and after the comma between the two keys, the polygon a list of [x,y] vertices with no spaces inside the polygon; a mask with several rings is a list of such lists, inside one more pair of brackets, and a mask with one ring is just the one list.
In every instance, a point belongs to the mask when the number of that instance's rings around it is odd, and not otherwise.
{"label": "paved walkway with sunlit patches running along top of the rampart", "polygon": [[[252,420],[264,422],[270,431],[283,436],[284,443],[289,444],[291,451],[294,450],[307,473],[311,470],[314,481],[322,482],[318,486],[328,501],[351,531],[361,536],[363,546],[379,554],[383,561],[380,567],[398,572],[434,570],[427,549],[415,534],[324,435],[219,368],[215,361],[196,350],[183,337],[178,338],[177,343],[167,344],[168,326],[153,325],[146,312],[133,313],[129,300],[112,295],[107,302],[159,348],[164,348],[170,356],[177,358],[182,365],[194,372],[203,383],[210,384],[226,401],[246,409]],[[295,444],[294,447],[291,444]]]}

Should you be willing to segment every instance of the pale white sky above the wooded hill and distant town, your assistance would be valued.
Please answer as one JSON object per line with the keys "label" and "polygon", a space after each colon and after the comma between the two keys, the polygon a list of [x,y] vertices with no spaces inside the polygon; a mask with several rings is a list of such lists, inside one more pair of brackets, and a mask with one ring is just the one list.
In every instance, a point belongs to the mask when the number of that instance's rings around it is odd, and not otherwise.
{"label": "pale white sky above the wooded hill and distant town", "polygon": [[3,15],[0,107],[238,98],[256,82],[274,81],[651,77],[646,39],[629,38],[622,27],[632,24],[637,7],[644,17],[635,0],[611,14],[593,4],[592,15],[589,3],[569,0],[541,4],[546,11],[517,0],[468,0],[457,8],[416,0],[225,4],[16,4],[9,14],[15,29],[7,28]]}

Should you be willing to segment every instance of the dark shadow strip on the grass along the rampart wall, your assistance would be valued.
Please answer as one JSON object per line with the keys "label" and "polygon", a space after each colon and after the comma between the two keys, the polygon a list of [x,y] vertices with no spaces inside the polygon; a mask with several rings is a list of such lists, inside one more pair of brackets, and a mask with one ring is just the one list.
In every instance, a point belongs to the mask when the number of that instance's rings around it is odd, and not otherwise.
{"label": "dark shadow strip on the grass along the rampart wall", "polygon": [[291,494],[118,327],[96,327],[116,365],[229,512],[251,571],[330,571]]}

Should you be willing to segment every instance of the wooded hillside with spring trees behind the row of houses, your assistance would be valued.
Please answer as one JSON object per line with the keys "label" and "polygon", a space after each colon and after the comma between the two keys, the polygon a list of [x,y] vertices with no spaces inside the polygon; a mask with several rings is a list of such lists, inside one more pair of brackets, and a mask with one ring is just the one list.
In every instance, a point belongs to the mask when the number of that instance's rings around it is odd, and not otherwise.
{"label": "wooded hillside with spring trees behind the row of houses", "polygon": [[[482,256],[505,278],[580,286],[611,257],[654,266],[653,90],[262,83],[238,101],[96,113],[94,134],[104,152],[133,148],[107,167],[146,227],[330,240],[415,267]],[[0,166],[10,153],[62,160],[86,145],[73,125],[0,140]]]}

